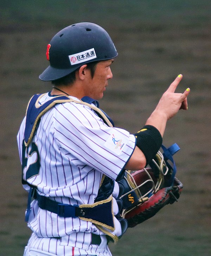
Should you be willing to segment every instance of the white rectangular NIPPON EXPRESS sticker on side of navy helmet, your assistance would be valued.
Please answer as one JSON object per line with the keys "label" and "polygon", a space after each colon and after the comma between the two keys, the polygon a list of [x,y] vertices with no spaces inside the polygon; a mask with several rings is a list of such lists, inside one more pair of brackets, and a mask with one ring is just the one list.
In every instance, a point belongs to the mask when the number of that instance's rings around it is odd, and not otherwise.
{"label": "white rectangular NIPPON EXPRESS sticker on side of navy helmet", "polygon": [[85,50],[84,52],[69,55],[71,65],[76,65],[78,63],[82,63],[84,61],[95,59],[95,58],[97,58],[97,55],[95,53],[94,48]]}

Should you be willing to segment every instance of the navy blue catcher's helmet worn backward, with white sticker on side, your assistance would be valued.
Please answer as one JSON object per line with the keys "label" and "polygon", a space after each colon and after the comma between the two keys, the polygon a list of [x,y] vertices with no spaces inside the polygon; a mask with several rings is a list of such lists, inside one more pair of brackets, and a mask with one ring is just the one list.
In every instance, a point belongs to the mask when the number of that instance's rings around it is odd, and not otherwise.
{"label": "navy blue catcher's helmet worn backward, with white sticker on side", "polygon": [[47,45],[50,66],[41,73],[43,81],[64,77],[88,62],[109,60],[118,55],[109,34],[94,23],[82,22],[59,31]]}

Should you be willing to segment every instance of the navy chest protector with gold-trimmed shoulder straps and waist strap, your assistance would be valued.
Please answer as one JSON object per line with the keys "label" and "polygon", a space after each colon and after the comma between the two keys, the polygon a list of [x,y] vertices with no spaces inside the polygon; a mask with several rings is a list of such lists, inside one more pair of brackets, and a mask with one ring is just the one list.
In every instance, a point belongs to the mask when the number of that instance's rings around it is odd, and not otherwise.
{"label": "navy chest protector with gold-trimmed shoulder straps and waist strap", "polygon": [[[22,169],[27,165],[26,155],[30,154],[28,152],[28,146],[32,142],[32,138],[36,127],[39,124],[40,117],[45,114],[50,108],[55,104],[65,103],[65,102],[74,102],[77,104],[82,104],[90,107],[95,113],[102,118],[104,123],[108,126],[113,127],[113,121],[104,113],[99,107],[99,104],[96,100],[91,99],[90,97],[83,97],[80,100],[76,101],[65,95],[59,95],[52,97],[49,101],[45,102],[43,105],[39,104],[39,100],[45,94],[36,94],[34,95],[30,102],[28,103],[27,112],[26,112],[26,128],[24,133],[23,141],[23,161]],[[94,105],[91,105],[94,103]],[[38,163],[39,164],[39,163]],[[98,195],[93,204],[81,204],[81,205],[70,205],[70,204],[61,204],[56,201],[50,200],[48,197],[40,196],[38,194],[37,188],[33,185],[27,183],[27,177],[22,176],[22,183],[28,184],[30,192],[28,195],[28,207],[26,211],[26,221],[28,221],[30,215],[30,203],[32,198],[38,201],[38,205],[41,209],[49,210],[50,212],[58,214],[62,217],[73,217],[80,218],[85,221],[91,221],[94,223],[100,230],[108,234],[113,238],[114,242],[117,242],[118,238],[114,236],[110,231],[115,230],[114,226],[114,213],[112,208],[112,193],[114,190],[114,180],[103,175],[101,180],[101,185],[98,190]],[[106,230],[105,230],[106,228]]]}

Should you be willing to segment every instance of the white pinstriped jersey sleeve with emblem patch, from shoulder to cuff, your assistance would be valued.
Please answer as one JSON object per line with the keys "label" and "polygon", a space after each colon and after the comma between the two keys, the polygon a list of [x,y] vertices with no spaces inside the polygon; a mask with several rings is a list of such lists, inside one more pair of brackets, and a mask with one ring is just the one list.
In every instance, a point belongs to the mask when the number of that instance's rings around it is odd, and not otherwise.
{"label": "white pinstriped jersey sleeve with emblem patch, from shoulder to cuff", "polygon": [[59,104],[54,117],[57,143],[70,161],[115,180],[133,153],[134,135],[109,127],[91,108],[81,104]]}

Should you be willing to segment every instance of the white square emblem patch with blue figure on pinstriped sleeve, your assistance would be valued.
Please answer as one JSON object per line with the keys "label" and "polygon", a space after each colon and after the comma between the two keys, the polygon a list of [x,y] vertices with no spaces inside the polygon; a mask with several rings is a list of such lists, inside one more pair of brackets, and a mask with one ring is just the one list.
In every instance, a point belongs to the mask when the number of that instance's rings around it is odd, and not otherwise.
{"label": "white square emblem patch with blue figure on pinstriped sleeve", "polygon": [[128,138],[124,137],[121,133],[115,131],[111,133],[104,146],[115,152],[117,155],[120,155],[127,143]]}

